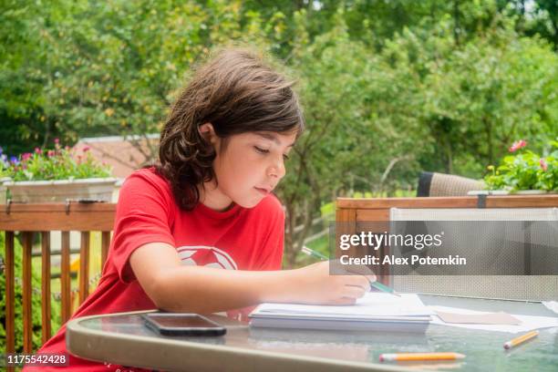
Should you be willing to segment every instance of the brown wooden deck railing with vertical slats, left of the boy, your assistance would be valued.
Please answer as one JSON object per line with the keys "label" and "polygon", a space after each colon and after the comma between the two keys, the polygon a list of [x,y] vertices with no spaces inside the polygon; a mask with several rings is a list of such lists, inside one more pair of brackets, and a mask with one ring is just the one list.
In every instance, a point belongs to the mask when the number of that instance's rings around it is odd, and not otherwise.
{"label": "brown wooden deck railing with vertical slats, left of the boy", "polygon": [[[42,342],[53,334],[51,320],[51,247],[50,232],[61,231],[60,289],[61,324],[72,315],[70,288],[70,232],[81,233],[79,250],[79,304],[89,294],[89,237],[101,232],[101,267],[107,260],[110,232],[114,224],[116,204],[113,203],[53,203],[10,204],[1,206],[0,233],[5,232],[5,341],[6,353],[15,352],[15,239],[19,233],[23,248],[23,348],[32,350],[32,268],[31,256],[35,234],[41,242],[41,326]],[[56,330],[55,330],[56,331]]]}

